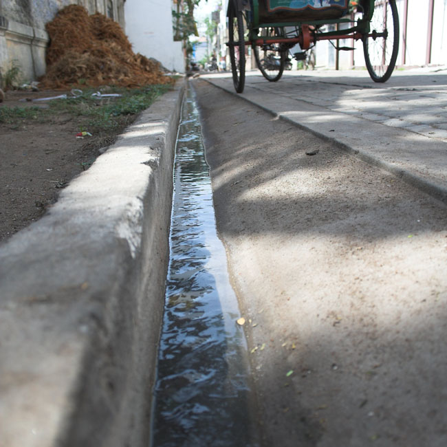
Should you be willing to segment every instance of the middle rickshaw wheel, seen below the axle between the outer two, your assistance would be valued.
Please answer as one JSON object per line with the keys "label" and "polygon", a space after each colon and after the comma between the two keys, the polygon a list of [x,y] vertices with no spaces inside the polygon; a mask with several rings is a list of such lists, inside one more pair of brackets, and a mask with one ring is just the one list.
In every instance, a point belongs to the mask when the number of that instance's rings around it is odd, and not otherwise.
{"label": "middle rickshaw wheel, seen below the axle between the outer two", "polygon": [[[258,39],[281,36],[281,28],[261,28]],[[283,76],[286,51],[281,51],[279,43],[264,43],[263,45],[252,45],[254,58],[264,78],[272,83]]]}

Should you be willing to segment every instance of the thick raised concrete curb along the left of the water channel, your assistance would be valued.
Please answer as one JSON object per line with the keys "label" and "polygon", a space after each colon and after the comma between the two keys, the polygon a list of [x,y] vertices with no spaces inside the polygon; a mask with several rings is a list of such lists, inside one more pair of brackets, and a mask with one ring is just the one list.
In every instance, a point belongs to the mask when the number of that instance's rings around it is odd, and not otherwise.
{"label": "thick raised concrete curb along the left of the water channel", "polygon": [[0,446],[147,446],[184,81],[0,249]]}

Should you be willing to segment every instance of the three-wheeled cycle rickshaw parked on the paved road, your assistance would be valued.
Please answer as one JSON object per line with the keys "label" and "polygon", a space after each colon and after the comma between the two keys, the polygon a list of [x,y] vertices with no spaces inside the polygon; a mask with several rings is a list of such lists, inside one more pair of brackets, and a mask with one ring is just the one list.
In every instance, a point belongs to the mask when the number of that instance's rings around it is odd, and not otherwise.
{"label": "three-wheeled cycle rickshaw parked on the paved road", "polygon": [[360,40],[369,75],[377,83],[388,80],[395,67],[399,51],[395,0],[229,0],[227,16],[237,93],[245,83],[246,45],[251,45],[258,68],[272,82],[281,78],[290,61],[289,50],[297,43],[301,52],[294,57],[303,61],[318,41]]}

